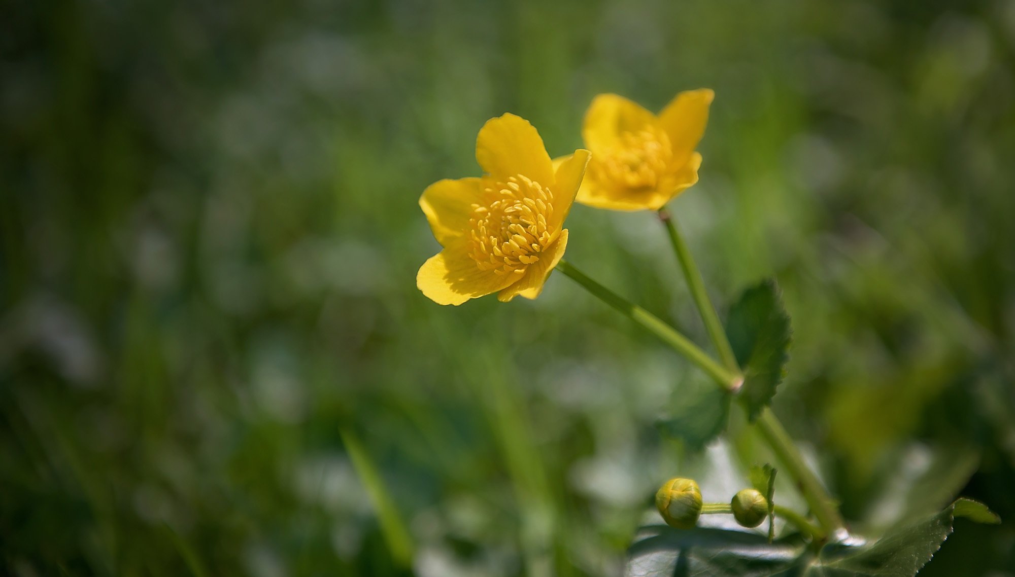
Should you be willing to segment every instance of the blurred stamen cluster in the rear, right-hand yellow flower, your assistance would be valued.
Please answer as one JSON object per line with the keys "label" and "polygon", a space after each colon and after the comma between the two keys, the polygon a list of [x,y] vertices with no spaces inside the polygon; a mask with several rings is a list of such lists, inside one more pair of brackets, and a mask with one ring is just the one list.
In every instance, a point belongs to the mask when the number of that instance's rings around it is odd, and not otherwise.
{"label": "blurred stamen cluster in the rear, right-hand yellow flower", "polygon": [[673,146],[666,132],[647,126],[624,132],[620,141],[589,163],[594,178],[626,189],[655,189],[673,162]]}

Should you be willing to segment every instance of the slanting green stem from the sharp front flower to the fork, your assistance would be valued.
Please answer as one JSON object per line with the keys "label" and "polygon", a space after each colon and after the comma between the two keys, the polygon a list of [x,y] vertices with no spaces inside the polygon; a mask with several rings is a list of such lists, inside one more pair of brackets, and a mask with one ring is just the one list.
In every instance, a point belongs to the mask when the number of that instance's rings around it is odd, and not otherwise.
{"label": "slanting green stem from the sharp front flower to the fork", "polygon": [[571,278],[571,280],[582,285],[583,288],[591,292],[594,296],[599,297],[599,299],[606,304],[609,304],[631,320],[647,329],[653,335],[665,341],[667,345],[673,347],[673,349],[678,353],[687,357],[687,360],[691,361],[701,370],[708,373],[708,375],[724,388],[728,390],[736,390],[740,386],[743,379],[738,373],[723,368],[719,363],[706,355],[704,351],[699,349],[694,343],[691,343],[687,337],[678,333],[675,329],[661,320],[658,316],[640,306],[631,304],[617,293],[590,279],[581,271],[572,267],[570,263],[564,260],[557,263],[556,270],[567,275]]}

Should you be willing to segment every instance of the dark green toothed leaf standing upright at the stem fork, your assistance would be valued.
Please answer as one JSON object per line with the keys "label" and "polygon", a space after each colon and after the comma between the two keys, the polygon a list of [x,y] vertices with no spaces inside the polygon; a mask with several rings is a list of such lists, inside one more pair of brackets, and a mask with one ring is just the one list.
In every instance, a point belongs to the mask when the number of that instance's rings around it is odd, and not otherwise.
{"label": "dark green toothed leaf standing upright at the stem fork", "polygon": [[790,333],[790,316],[773,280],[747,289],[730,308],[726,334],[744,372],[740,396],[752,422],[783,380]]}

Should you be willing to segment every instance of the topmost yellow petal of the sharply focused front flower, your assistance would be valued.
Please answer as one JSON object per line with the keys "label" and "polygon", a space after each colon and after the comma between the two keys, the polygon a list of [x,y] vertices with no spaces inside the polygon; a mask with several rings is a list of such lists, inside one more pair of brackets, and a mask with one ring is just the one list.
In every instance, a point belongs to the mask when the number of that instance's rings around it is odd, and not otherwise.
{"label": "topmost yellow petal of the sharply focused front flower", "polygon": [[476,138],[476,160],[498,181],[524,174],[540,185],[553,182],[553,163],[529,121],[513,114],[486,121]]}

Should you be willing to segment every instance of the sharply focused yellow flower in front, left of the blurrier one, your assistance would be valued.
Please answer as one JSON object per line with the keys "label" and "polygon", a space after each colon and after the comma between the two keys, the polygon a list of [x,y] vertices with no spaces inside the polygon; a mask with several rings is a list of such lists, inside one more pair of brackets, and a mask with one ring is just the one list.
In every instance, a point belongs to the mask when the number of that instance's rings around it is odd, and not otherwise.
{"label": "sharply focused yellow flower in front, left of the blurrier one", "polygon": [[509,301],[536,298],[567,246],[564,218],[589,161],[576,150],[554,168],[529,121],[490,119],[476,138],[486,174],[430,185],[419,206],[444,246],[416,274],[438,304],[462,304],[493,292]]}

